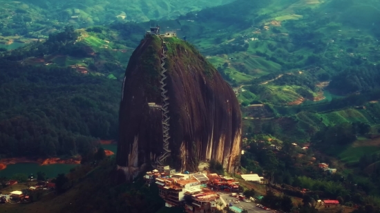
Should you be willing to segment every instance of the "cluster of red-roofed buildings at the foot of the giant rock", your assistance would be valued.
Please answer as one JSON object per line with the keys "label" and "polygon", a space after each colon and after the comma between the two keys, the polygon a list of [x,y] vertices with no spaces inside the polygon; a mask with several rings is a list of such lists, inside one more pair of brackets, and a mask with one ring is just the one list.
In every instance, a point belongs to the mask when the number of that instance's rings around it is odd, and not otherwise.
{"label": "cluster of red-roofed buildings at the foot of the giant rock", "polygon": [[187,212],[209,211],[217,207],[218,191],[237,192],[233,178],[202,172],[175,172],[167,166],[146,172],[147,185],[156,184],[165,206],[182,206]]}

